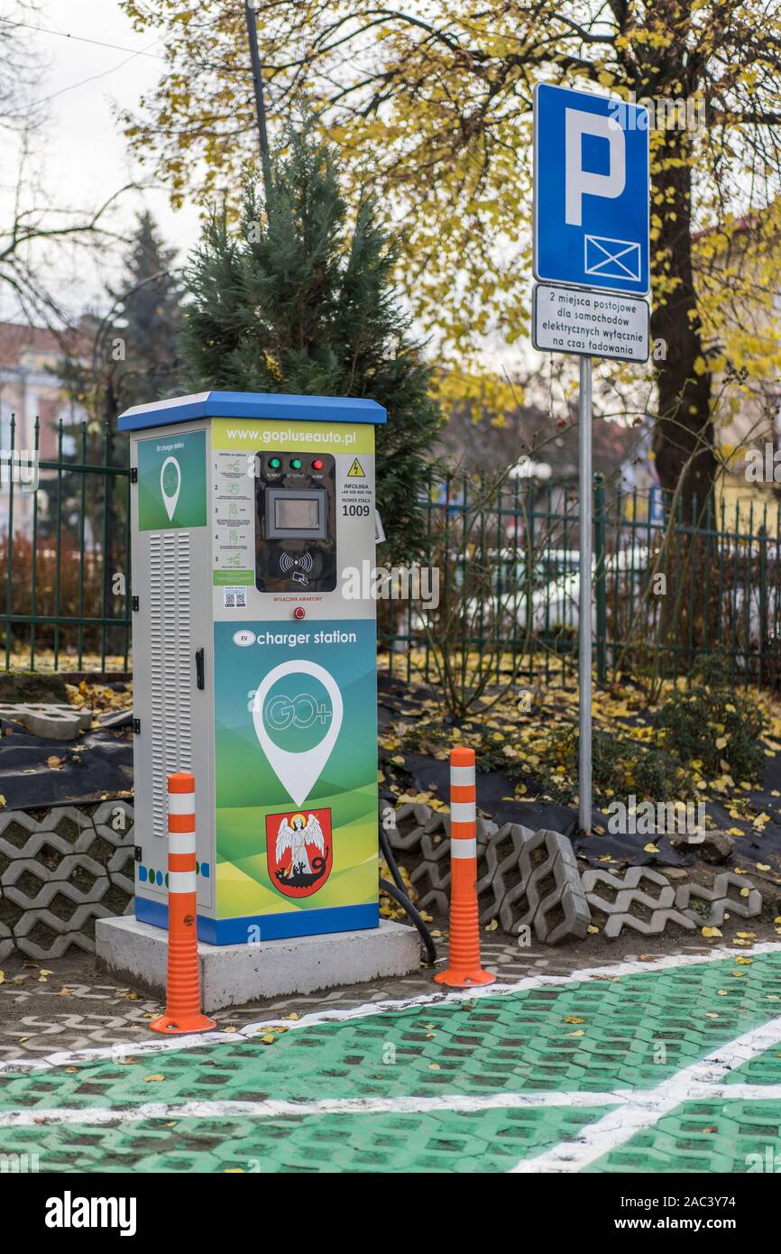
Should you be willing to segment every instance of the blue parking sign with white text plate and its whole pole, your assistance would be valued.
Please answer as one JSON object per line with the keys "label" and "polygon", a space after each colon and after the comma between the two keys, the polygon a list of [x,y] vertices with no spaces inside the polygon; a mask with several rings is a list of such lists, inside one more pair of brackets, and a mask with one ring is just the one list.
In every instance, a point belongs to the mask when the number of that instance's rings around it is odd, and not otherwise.
{"label": "blue parking sign with white text plate and its whole pole", "polygon": [[[578,801],[587,835],[592,830],[592,364],[594,357],[648,360],[649,123],[642,104],[534,84],[532,344],[543,352],[580,357]],[[602,145],[598,171],[594,140]]]}

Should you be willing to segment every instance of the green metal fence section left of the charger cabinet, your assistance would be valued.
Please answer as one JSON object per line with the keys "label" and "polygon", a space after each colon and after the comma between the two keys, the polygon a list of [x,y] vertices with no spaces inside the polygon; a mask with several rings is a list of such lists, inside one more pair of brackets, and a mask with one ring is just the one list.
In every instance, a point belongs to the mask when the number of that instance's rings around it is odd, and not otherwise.
{"label": "green metal fence section left of the charger cabinet", "polygon": [[[0,667],[127,670],[130,652],[127,441],[108,424],[56,425],[34,451],[38,488],[15,482],[18,424],[0,466]],[[30,450],[24,450],[30,451]]]}

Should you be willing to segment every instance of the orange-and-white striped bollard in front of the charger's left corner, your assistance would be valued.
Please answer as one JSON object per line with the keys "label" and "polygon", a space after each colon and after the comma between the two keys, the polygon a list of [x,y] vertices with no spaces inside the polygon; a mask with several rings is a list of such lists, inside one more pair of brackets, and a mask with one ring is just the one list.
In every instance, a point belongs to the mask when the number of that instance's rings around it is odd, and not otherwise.
{"label": "orange-and-white striped bollard in front of the charger's left corner", "polygon": [[165,1013],[153,1032],[208,1032],[214,1020],[201,1013],[196,925],[196,776],[168,776],[168,974]]}

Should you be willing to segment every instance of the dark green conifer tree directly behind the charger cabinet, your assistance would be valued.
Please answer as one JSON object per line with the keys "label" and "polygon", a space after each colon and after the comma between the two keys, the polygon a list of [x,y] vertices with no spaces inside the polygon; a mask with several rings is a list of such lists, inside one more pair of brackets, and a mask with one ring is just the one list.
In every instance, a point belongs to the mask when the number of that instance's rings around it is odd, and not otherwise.
{"label": "dark green conifer tree directly behind the charger cabinet", "polygon": [[392,282],[392,241],[374,197],[355,221],[335,152],[308,120],[272,154],[271,184],[249,178],[238,229],[214,213],[186,286],[188,386],[365,396],[387,410],[377,435],[377,505],[389,547],[409,561],[424,543],[424,475],[439,425],[430,367]]}

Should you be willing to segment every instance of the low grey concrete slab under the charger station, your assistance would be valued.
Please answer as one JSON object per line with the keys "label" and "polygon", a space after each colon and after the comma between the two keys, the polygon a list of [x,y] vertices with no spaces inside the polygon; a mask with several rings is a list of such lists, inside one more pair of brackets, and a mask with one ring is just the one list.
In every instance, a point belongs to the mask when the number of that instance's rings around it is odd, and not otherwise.
{"label": "low grey concrete slab under the charger station", "polygon": [[[95,953],[104,971],[165,996],[168,933],[135,918],[97,919]],[[406,976],[420,967],[415,928],[380,920],[379,928],[257,944],[198,943],[204,1013],[262,997]]]}

